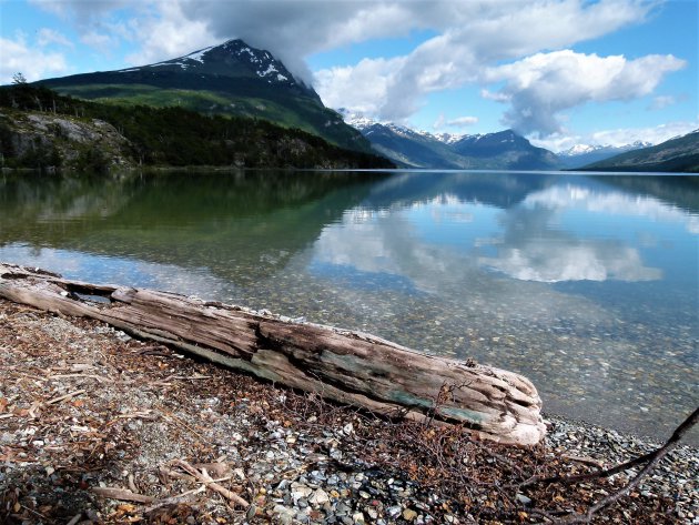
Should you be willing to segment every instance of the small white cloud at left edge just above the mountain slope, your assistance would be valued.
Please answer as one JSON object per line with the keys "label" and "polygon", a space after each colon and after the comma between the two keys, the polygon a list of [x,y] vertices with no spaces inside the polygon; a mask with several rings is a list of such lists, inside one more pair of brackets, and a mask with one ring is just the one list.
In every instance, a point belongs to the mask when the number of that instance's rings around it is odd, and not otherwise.
{"label": "small white cloud at left edge just above the mountain slope", "polygon": [[17,40],[0,38],[0,83],[10,83],[14,73],[21,72],[28,81],[45,78],[47,73],[59,74],[68,70],[65,57],[27,43],[23,36]]}

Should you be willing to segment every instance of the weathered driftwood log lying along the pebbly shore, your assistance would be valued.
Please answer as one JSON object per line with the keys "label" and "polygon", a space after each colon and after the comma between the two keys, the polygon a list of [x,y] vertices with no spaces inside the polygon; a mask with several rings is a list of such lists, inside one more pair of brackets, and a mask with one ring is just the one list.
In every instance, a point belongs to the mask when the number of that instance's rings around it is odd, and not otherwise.
{"label": "weathered driftwood log lying along the pebbly shore", "polygon": [[546,433],[541,401],[525,377],[421,354],[373,335],[1,263],[0,296],[100,320],[136,337],[386,415],[463,424],[478,437],[507,444],[536,444]]}

